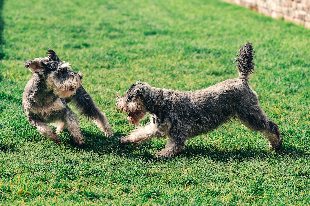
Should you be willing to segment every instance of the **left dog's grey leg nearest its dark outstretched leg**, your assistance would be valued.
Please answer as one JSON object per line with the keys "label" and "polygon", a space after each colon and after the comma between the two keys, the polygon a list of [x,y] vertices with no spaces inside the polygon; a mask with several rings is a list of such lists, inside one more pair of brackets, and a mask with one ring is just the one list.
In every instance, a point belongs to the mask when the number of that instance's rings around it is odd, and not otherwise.
{"label": "left dog's grey leg nearest its dark outstretched leg", "polygon": [[73,141],[78,145],[84,145],[84,137],[81,134],[78,117],[74,115],[73,111],[68,108],[64,115],[64,124],[68,128]]}

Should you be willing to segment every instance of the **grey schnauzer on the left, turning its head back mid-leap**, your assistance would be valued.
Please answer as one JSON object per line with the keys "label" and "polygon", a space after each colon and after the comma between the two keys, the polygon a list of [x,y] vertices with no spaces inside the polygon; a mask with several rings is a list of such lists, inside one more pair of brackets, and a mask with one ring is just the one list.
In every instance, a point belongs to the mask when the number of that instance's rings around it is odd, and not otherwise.
{"label": "grey schnauzer on the left, turning its head back mid-leap", "polygon": [[[69,63],[61,61],[53,50],[48,50],[47,55],[24,62],[25,67],[33,72],[22,99],[30,124],[58,145],[61,141],[57,133],[67,128],[73,141],[83,145],[78,117],[67,105],[71,101],[83,116],[94,121],[106,135],[112,136],[105,114],[82,86],[82,75],[71,70]],[[48,123],[57,127],[56,131]]]}

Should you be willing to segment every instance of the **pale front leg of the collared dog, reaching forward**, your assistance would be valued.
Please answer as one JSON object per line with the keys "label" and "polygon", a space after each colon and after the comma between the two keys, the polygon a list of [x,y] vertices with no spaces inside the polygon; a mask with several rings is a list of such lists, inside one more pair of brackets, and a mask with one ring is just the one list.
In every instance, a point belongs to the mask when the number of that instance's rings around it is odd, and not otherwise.
{"label": "pale front leg of the collared dog, reaching forward", "polygon": [[149,123],[145,127],[138,127],[130,135],[125,137],[118,137],[117,140],[122,145],[139,145],[142,142],[150,141],[151,138],[161,135],[157,127],[153,123]]}

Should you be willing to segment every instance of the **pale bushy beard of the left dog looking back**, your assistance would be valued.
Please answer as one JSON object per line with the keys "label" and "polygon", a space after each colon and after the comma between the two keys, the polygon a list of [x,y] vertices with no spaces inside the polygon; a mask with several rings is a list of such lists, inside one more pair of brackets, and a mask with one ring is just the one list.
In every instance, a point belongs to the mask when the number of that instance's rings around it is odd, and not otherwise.
{"label": "pale bushy beard of the left dog looking back", "polygon": [[61,83],[55,81],[54,85],[54,94],[56,96],[59,95],[60,98],[64,98],[75,95],[76,90],[81,87],[82,82],[78,75],[72,75]]}

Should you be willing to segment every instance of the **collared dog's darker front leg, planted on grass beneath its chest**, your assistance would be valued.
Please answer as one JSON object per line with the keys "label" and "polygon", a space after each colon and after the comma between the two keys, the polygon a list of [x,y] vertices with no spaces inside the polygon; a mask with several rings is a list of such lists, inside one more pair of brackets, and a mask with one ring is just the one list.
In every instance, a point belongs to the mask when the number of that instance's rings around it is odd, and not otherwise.
{"label": "collared dog's darker front leg, planted on grass beneath its chest", "polygon": [[185,147],[187,135],[181,134],[170,134],[170,138],[165,146],[165,148],[156,153],[156,157],[170,157],[176,155]]}

